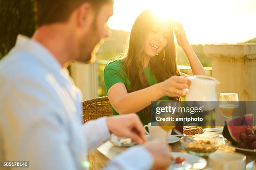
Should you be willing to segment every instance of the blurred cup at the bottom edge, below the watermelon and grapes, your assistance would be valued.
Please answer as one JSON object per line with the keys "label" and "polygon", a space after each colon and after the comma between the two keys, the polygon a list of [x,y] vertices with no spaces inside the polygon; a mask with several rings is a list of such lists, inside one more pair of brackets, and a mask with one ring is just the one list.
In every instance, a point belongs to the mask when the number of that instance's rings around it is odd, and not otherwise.
{"label": "blurred cup at the bottom edge, below the watermelon and grapes", "polygon": [[241,153],[212,153],[209,160],[212,170],[245,170],[246,155]]}

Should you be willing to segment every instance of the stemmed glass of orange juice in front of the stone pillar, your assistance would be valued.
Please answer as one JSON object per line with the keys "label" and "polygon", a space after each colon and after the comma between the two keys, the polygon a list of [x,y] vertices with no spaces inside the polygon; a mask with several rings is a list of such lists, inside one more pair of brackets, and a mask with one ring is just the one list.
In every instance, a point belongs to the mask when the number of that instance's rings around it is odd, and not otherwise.
{"label": "stemmed glass of orange juice in front of the stone pillar", "polygon": [[238,111],[237,93],[220,93],[219,110],[226,118],[232,117]]}

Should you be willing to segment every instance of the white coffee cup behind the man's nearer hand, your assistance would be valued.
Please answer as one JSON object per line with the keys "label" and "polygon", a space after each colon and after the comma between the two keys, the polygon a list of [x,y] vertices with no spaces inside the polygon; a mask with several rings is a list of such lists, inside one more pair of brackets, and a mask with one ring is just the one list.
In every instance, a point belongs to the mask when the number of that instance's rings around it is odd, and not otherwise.
{"label": "white coffee cup behind the man's nearer hand", "polygon": [[[146,127],[148,127],[149,133],[146,131]],[[167,134],[171,134],[172,130],[169,132],[166,132],[163,130],[160,126],[151,126],[151,123],[148,123],[148,125],[144,125],[145,133],[150,135],[153,139],[158,139],[162,141],[166,141]]]}

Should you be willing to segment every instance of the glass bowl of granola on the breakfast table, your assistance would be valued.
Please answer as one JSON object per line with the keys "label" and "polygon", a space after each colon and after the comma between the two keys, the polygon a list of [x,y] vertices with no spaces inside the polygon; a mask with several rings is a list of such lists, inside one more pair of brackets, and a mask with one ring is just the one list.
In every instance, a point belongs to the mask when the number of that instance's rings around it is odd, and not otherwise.
{"label": "glass bowl of granola on the breakfast table", "polygon": [[200,136],[182,137],[180,138],[180,142],[184,150],[197,156],[208,156],[222,145],[220,138],[205,138]]}

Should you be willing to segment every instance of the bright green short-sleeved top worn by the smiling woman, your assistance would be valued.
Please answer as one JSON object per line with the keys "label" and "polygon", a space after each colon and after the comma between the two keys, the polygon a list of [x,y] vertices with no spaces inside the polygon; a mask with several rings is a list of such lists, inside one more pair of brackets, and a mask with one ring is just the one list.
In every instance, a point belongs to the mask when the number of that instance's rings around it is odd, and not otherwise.
{"label": "bright green short-sleeved top worn by the smiling woman", "polygon": [[[110,62],[104,69],[104,82],[106,86],[106,93],[108,94],[109,88],[118,83],[121,82],[125,85],[126,89],[131,85],[130,80],[124,75],[123,69],[121,68],[123,66],[122,62],[120,60],[115,60],[113,62]],[[145,67],[144,72],[146,75],[146,78],[149,82],[149,85],[154,85],[157,83],[156,77],[151,74],[150,67]],[[169,100],[167,96],[161,97],[159,100]],[[119,115],[118,112],[113,110],[113,115]],[[137,112],[138,116],[142,120],[141,112]],[[150,122],[151,120],[148,120]],[[148,122],[145,122],[144,124],[147,124]]]}

